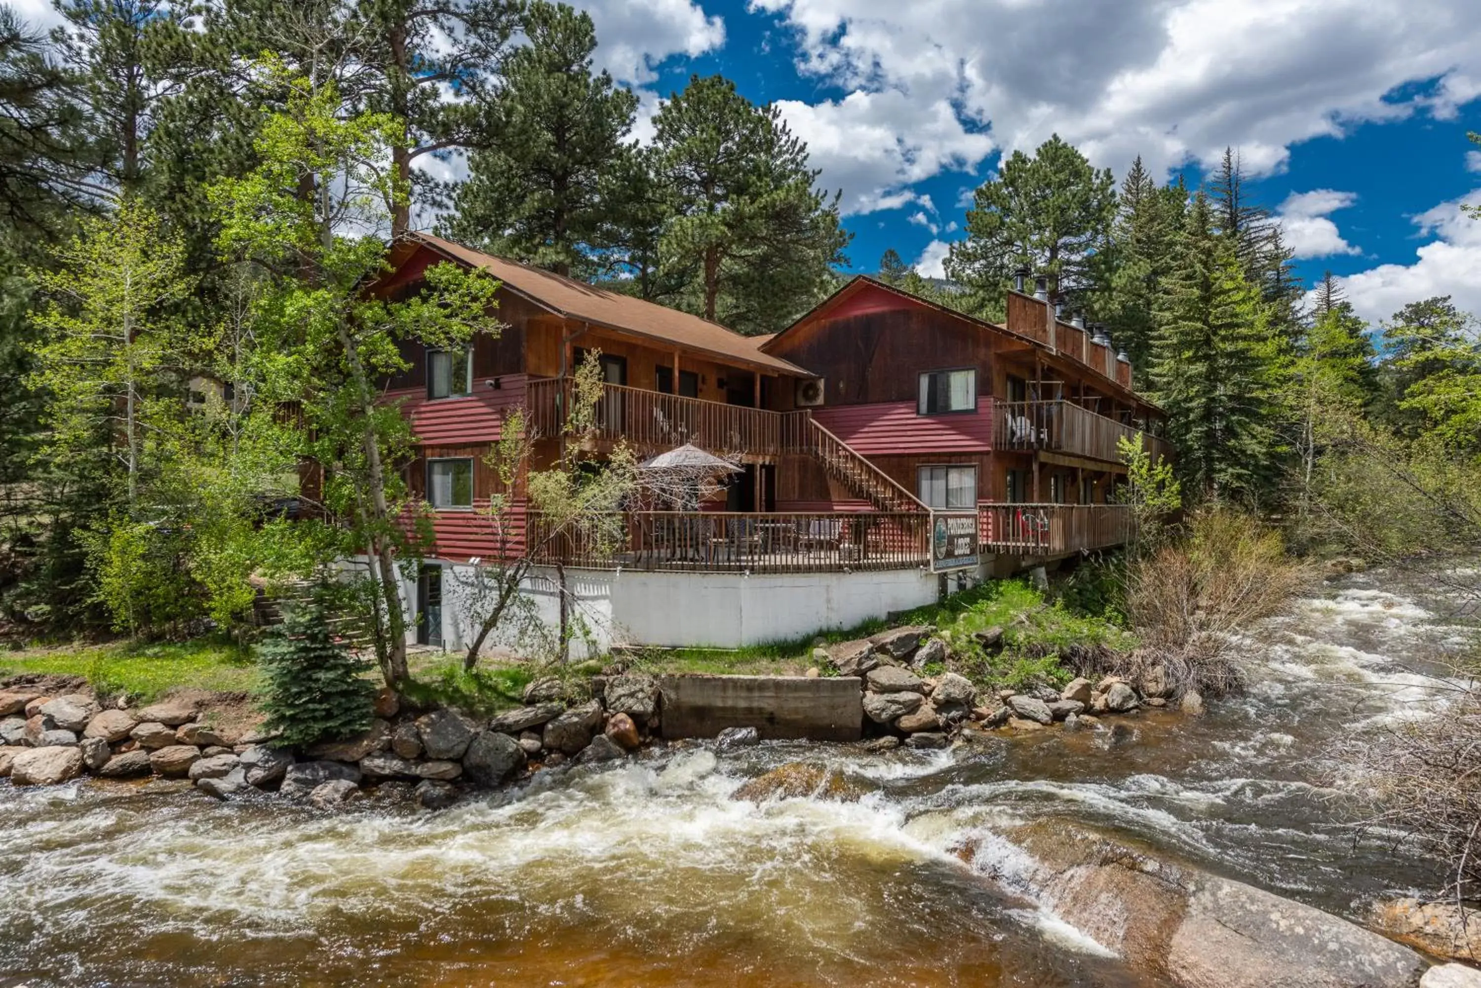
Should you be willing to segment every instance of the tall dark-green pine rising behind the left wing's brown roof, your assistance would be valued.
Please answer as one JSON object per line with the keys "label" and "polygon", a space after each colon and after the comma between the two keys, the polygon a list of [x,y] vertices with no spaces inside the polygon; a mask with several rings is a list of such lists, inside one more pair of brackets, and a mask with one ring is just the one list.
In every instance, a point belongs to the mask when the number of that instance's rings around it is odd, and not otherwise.
{"label": "tall dark-green pine rising behind the left wing's brown roof", "polygon": [[625,154],[637,96],[594,74],[591,16],[536,0],[493,105],[492,147],[469,161],[458,191],[455,237],[557,274],[606,267],[613,191],[604,176]]}

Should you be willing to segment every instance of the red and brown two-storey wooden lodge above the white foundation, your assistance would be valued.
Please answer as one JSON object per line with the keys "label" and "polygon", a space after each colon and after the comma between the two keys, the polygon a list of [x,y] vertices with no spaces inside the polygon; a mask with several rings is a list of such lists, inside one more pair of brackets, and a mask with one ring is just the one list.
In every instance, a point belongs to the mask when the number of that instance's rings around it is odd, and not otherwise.
{"label": "red and brown two-storey wooden lodge above the white foundation", "polygon": [[1124,358],[1022,292],[998,326],[860,276],[786,330],[746,338],[428,234],[392,247],[375,290],[415,292],[441,261],[501,280],[505,329],[467,354],[409,347],[410,369],[387,384],[418,437],[409,481],[432,507],[438,560],[524,550],[541,520],[520,514],[517,532],[495,536],[477,510],[496,483],[483,458],[518,406],[545,437],[536,465],[555,456],[586,351],[600,351],[606,378],[598,456],[619,438],[643,456],[693,443],[743,473],[698,513],[629,513],[616,558],[566,545],[548,563],[920,569],[946,511],[974,514],[982,554],[1060,557],[1127,536],[1126,508],[1111,504],[1118,437],[1167,452],[1163,415],[1130,390]]}

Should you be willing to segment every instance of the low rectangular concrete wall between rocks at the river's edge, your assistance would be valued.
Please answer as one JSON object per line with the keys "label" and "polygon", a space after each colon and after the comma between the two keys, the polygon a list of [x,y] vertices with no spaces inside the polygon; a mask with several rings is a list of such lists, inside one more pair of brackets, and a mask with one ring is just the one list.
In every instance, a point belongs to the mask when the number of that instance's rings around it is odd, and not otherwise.
{"label": "low rectangular concrete wall between rocks at the river's edge", "polygon": [[665,738],[714,738],[755,727],[763,739],[857,741],[860,680],[795,675],[663,675]]}

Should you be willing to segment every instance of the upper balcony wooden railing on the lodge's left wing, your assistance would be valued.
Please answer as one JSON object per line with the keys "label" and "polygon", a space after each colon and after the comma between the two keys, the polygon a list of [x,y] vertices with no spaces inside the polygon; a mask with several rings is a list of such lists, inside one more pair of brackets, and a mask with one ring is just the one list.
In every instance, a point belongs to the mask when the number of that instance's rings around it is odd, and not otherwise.
{"label": "upper balcony wooden railing on the lodge's left wing", "polygon": [[[560,434],[570,393],[570,381],[530,381],[530,422],[541,435]],[[640,450],[693,443],[720,455],[778,456],[807,450],[807,418],[806,412],[770,412],[604,384],[595,409],[595,438],[622,438]]]}

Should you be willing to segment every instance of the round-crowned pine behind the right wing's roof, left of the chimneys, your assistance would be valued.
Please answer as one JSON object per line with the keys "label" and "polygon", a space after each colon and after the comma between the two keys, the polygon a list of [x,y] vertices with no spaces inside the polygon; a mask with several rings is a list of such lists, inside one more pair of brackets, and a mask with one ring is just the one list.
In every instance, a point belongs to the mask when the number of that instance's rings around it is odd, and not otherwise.
{"label": "round-crowned pine behind the right wing's roof, left of the chimneys", "polygon": [[973,295],[973,307],[1000,317],[1016,268],[1050,280],[1050,301],[1087,305],[1103,278],[1115,219],[1115,181],[1090,167],[1059,135],[1032,157],[1014,151],[983,182],[967,210],[967,237],[951,247],[946,274]]}

